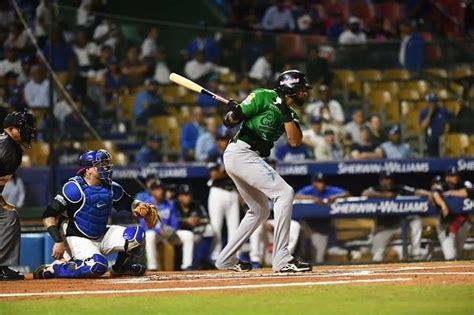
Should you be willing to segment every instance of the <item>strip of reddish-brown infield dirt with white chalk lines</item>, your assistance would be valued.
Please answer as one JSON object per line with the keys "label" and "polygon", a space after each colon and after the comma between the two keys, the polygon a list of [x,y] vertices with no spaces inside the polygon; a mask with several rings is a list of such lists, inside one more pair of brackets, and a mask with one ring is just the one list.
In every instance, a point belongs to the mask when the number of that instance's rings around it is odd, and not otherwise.
{"label": "strip of reddish-brown infield dirt with white chalk lines", "polygon": [[25,281],[0,282],[0,300],[377,283],[474,285],[474,262],[324,266],[315,267],[312,273],[294,275],[260,269],[249,273],[163,272],[135,278],[33,280],[30,274]]}

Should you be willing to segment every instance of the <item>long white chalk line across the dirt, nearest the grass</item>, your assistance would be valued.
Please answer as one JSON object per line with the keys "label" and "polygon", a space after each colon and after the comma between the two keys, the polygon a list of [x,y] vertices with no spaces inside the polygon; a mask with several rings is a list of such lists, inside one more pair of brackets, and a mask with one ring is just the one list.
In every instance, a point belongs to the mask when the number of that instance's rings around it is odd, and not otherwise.
{"label": "long white chalk line across the dirt, nearest the grass", "polygon": [[229,285],[212,287],[190,287],[190,288],[152,288],[152,289],[128,289],[128,290],[103,290],[103,291],[58,291],[58,292],[31,292],[31,293],[5,293],[0,294],[0,298],[7,297],[31,297],[31,296],[55,296],[55,295],[97,295],[97,294],[125,294],[125,293],[152,293],[152,292],[188,292],[188,291],[214,291],[214,290],[239,290],[239,289],[261,289],[261,288],[282,288],[282,287],[303,287],[331,284],[352,284],[352,283],[377,283],[409,281],[411,278],[387,278],[387,279],[359,279],[359,280],[338,280],[323,282],[290,282],[290,283],[265,283],[248,285]]}

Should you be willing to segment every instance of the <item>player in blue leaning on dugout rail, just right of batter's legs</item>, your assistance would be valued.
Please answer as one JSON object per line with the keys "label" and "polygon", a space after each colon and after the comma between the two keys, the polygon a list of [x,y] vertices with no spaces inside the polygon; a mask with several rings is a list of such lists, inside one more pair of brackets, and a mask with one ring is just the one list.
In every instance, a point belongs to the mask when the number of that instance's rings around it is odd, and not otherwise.
{"label": "player in blue leaning on dugout rail, just right of batter's legs", "polygon": [[[322,173],[313,175],[312,184],[304,186],[296,192],[295,201],[311,201],[315,204],[332,204],[338,198],[349,197],[350,193],[340,187],[326,184],[326,177]],[[329,233],[330,219],[306,219],[305,223],[311,230],[311,243],[316,249],[316,263],[324,262]]]}

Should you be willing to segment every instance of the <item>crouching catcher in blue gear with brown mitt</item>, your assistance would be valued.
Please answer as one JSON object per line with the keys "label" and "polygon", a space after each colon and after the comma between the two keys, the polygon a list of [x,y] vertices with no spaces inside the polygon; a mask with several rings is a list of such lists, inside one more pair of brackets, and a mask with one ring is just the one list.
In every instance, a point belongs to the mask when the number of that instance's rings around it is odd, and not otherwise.
{"label": "crouching catcher in blue gear with brown mitt", "polygon": [[33,277],[100,277],[108,270],[106,256],[114,252],[118,256],[111,268],[112,276],[144,275],[145,266],[134,262],[144,249],[143,228],[107,227],[107,221],[113,207],[132,211],[153,227],[159,219],[156,208],[134,200],[112,181],[111,155],[106,150],[85,152],[79,162],[77,176],[63,185],[43,213],[44,225],[55,242],[55,261],[39,266]]}

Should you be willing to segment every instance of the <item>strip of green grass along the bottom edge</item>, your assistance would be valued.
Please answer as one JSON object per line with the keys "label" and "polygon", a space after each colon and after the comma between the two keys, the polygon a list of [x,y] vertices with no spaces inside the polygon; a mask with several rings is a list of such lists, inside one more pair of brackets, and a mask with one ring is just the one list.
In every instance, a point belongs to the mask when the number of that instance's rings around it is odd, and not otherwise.
{"label": "strip of green grass along the bottom edge", "polygon": [[354,285],[0,300],[6,314],[474,315],[472,285]]}

